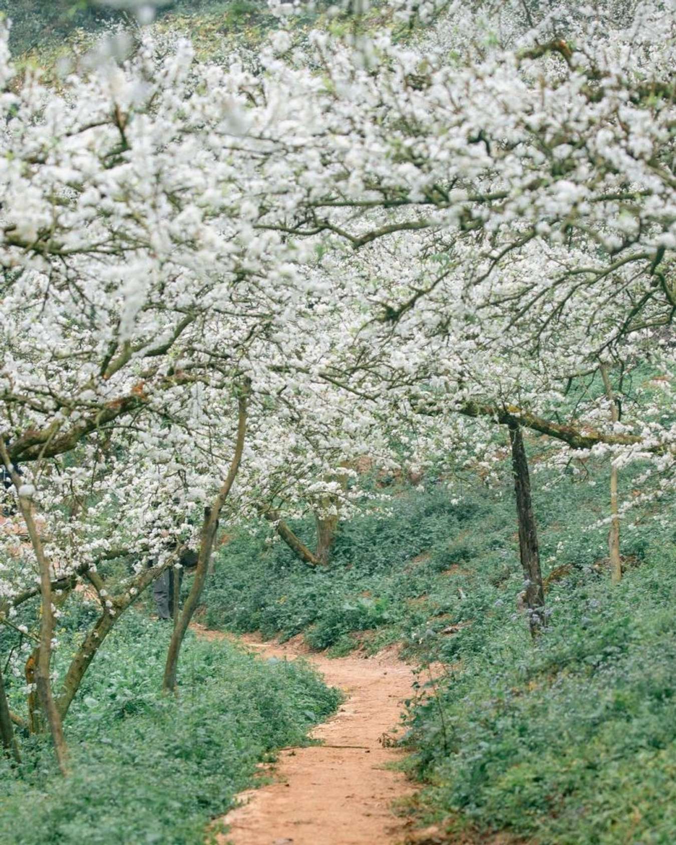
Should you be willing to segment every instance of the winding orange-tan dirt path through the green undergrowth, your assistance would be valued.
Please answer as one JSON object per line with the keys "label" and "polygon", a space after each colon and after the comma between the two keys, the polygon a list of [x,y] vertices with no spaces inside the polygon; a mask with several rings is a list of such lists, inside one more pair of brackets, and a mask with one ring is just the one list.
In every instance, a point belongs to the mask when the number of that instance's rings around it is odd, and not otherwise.
{"label": "winding orange-tan dirt path through the green undergrowth", "polygon": [[[273,783],[242,793],[242,805],[225,817],[230,833],[220,845],[395,845],[405,820],[392,802],[414,792],[388,764],[401,752],[387,747],[401,701],[413,695],[414,675],[394,651],[376,657],[328,659],[298,643],[246,643],[264,657],[300,653],[327,684],[346,695],[338,713],[313,732],[322,745],[285,750],[273,766]],[[383,747],[383,735],[386,737]]]}

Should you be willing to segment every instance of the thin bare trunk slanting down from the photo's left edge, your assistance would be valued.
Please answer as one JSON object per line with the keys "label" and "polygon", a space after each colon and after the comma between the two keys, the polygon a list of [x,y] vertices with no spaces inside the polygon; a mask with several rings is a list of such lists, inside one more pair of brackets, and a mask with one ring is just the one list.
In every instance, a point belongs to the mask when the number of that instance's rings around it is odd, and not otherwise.
{"label": "thin bare trunk slanting down from the photo's left edge", "polygon": [[[7,447],[4,439],[0,438],[0,455],[2,455],[4,465],[12,477],[14,487],[19,493],[22,481],[19,473],[16,472],[12,461],[9,459]],[[54,751],[57,755],[57,762],[62,774],[67,774],[68,769],[66,760],[68,757],[68,749],[66,747],[66,740],[63,736],[63,726],[59,711],[54,702],[54,696],[51,692],[50,679],[50,665],[51,665],[51,639],[54,633],[54,615],[52,613],[51,605],[51,574],[49,570],[49,561],[46,559],[46,554],[42,548],[42,541],[40,533],[35,526],[33,519],[33,503],[30,497],[19,495],[19,509],[21,515],[24,517],[26,527],[28,528],[28,536],[30,543],[35,552],[38,566],[40,568],[40,591],[42,597],[42,617],[40,624],[40,649],[37,653],[37,671],[35,672],[35,685],[37,687],[38,697],[41,701],[43,710],[49,723],[51,731],[51,739],[54,742]]]}

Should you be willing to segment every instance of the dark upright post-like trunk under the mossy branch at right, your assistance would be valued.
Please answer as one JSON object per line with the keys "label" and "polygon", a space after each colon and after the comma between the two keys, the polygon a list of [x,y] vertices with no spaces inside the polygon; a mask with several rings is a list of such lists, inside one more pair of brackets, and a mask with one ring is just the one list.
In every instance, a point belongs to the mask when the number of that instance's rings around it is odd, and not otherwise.
{"label": "dark upright post-like trunk under the mossy branch at right", "polygon": [[528,624],[531,635],[536,637],[545,625],[544,589],[540,570],[538,549],[538,528],[533,513],[531,482],[528,473],[526,450],[523,435],[518,423],[510,423],[511,472],[514,476],[516,493],[516,513],[519,520],[519,551],[523,579],[526,583],[525,605],[528,611]]}

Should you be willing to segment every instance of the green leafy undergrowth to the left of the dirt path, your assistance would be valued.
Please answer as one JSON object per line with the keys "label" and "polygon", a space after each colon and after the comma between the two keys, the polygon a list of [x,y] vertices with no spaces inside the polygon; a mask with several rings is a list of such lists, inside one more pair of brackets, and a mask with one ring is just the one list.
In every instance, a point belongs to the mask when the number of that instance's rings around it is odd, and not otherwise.
{"label": "green leafy undergrowth to the left of the dirt path", "polygon": [[202,843],[257,763],[302,744],[338,705],[338,691],[298,662],[262,662],[190,633],[180,696],[167,698],[168,638],[167,626],[130,613],[101,647],[66,722],[67,780],[44,742],[23,739],[17,771],[0,760],[0,842]]}

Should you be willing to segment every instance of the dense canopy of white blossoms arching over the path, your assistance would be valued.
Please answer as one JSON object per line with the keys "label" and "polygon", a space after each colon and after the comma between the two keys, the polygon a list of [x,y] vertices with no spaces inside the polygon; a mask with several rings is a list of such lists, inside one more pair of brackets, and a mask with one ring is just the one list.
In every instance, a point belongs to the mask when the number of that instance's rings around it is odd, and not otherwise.
{"label": "dense canopy of white blossoms arching over the path", "polygon": [[281,31],[256,67],[149,39],[58,90],[3,33],[0,413],[55,575],[194,540],[245,384],[230,518],[387,466],[397,426],[452,450],[480,425],[453,412],[670,470],[668,388],[612,429],[550,415],[601,360],[673,375],[676,8],[496,9]]}

